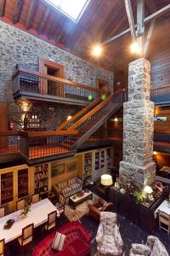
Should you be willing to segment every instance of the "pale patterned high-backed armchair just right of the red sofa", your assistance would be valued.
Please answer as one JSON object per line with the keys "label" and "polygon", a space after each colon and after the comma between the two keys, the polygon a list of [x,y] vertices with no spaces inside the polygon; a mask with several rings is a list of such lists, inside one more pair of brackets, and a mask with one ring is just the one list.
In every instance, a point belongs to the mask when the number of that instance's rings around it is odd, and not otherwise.
{"label": "pale patterned high-backed armchair just right of the red sofa", "polygon": [[122,255],[122,237],[116,224],[114,212],[100,212],[99,229],[96,236],[98,256]]}

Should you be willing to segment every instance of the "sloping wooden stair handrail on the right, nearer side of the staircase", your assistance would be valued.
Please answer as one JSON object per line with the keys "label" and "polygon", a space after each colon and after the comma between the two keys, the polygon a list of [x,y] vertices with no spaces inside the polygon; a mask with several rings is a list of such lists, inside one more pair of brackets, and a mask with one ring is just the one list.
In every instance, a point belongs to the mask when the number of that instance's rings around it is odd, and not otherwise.
{"label": "sloping wooden stair handrail on the right, nearer side of the staircase", "polygon": [[68,128],[67,130],[72,130],[72,129],[76,129],[79,125],[82,125],[82,123],[88,119],[90,116],[94,115],[94,113],[98,112],[99,109],[103,108],[105,106],[105,104],[107,102],[110,102],[111,98],[113,98],[114,96],[118,95],[121,92],[125,92],[125,89],[120,89],[120,90],[116,90],[116,92],[112,93],[111,96],[108,96],[105,101],[101,102],[97,107],[95,107],[93,110],[91,110],[90,112],[88,112],[87,114],[84,115],[84,117],[80,120],[77,121],[77,123],[75,123],[74,125],[71,125],[70,128]]}

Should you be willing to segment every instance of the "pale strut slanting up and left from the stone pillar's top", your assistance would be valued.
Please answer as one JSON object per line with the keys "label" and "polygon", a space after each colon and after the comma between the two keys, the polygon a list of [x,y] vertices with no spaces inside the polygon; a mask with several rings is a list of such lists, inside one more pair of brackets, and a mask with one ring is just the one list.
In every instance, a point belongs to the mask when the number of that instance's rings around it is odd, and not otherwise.
{"label": "pale strut slanting up and left from the stone pillar's top", "polygon": [[127,19],[128,24],[130,27],[131,36],[133,38],[133,41],[136,41],[136,31],[134,26],[134,19],[133,19],[133,9],[130,0],[124,0],[125,1],[125,7],[127,11]]}

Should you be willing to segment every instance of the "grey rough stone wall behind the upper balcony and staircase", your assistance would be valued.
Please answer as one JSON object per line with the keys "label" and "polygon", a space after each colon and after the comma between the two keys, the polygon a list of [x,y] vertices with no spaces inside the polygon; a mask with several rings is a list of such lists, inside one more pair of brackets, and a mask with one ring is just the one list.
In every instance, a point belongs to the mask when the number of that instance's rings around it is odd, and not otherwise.
{"label": "grey rough stone wall behind the upper balcony and staircase", "polygon": [[[109,82],[113,90],[113,73],[82,60],[76,55],[48,44],[42,39],[36,38],[27,32],[10,26],[0,20],[0,102],[8,102],[8,118],[14,119],[17,128],[22,123],[22,112],[20,105],[14,102],[12,74],[16,64],[29,65],[38,68],[38,58],[53,59],[65,66],[65,79],[71,79],[81,84],[95,86],[95,79],[104,79]],[[38,118],[42,118],[44,125],[53,126],[55,122],[60,123],[69,112],[74,114],[78,107],[66,107],[56,104],[52,106],[43,103],[31,108]],[[62,110],[61,110],[62,109]],[[49,119],[50,116],[50,119]]]}

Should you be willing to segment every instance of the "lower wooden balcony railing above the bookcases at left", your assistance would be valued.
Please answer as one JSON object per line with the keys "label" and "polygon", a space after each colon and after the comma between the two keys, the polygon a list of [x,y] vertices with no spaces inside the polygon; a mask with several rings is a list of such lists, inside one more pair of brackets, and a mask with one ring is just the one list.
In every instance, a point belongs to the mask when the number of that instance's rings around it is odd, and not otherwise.
{"label": "lower wooden balcony railing above the bookcases at left", "polygon": [[[26,160],[74,154],[65,139],[76,139],[77,131],[6,131],[0,133],[0,155],[21,154]],[[75,148],[74,148],[75,149]]]}

